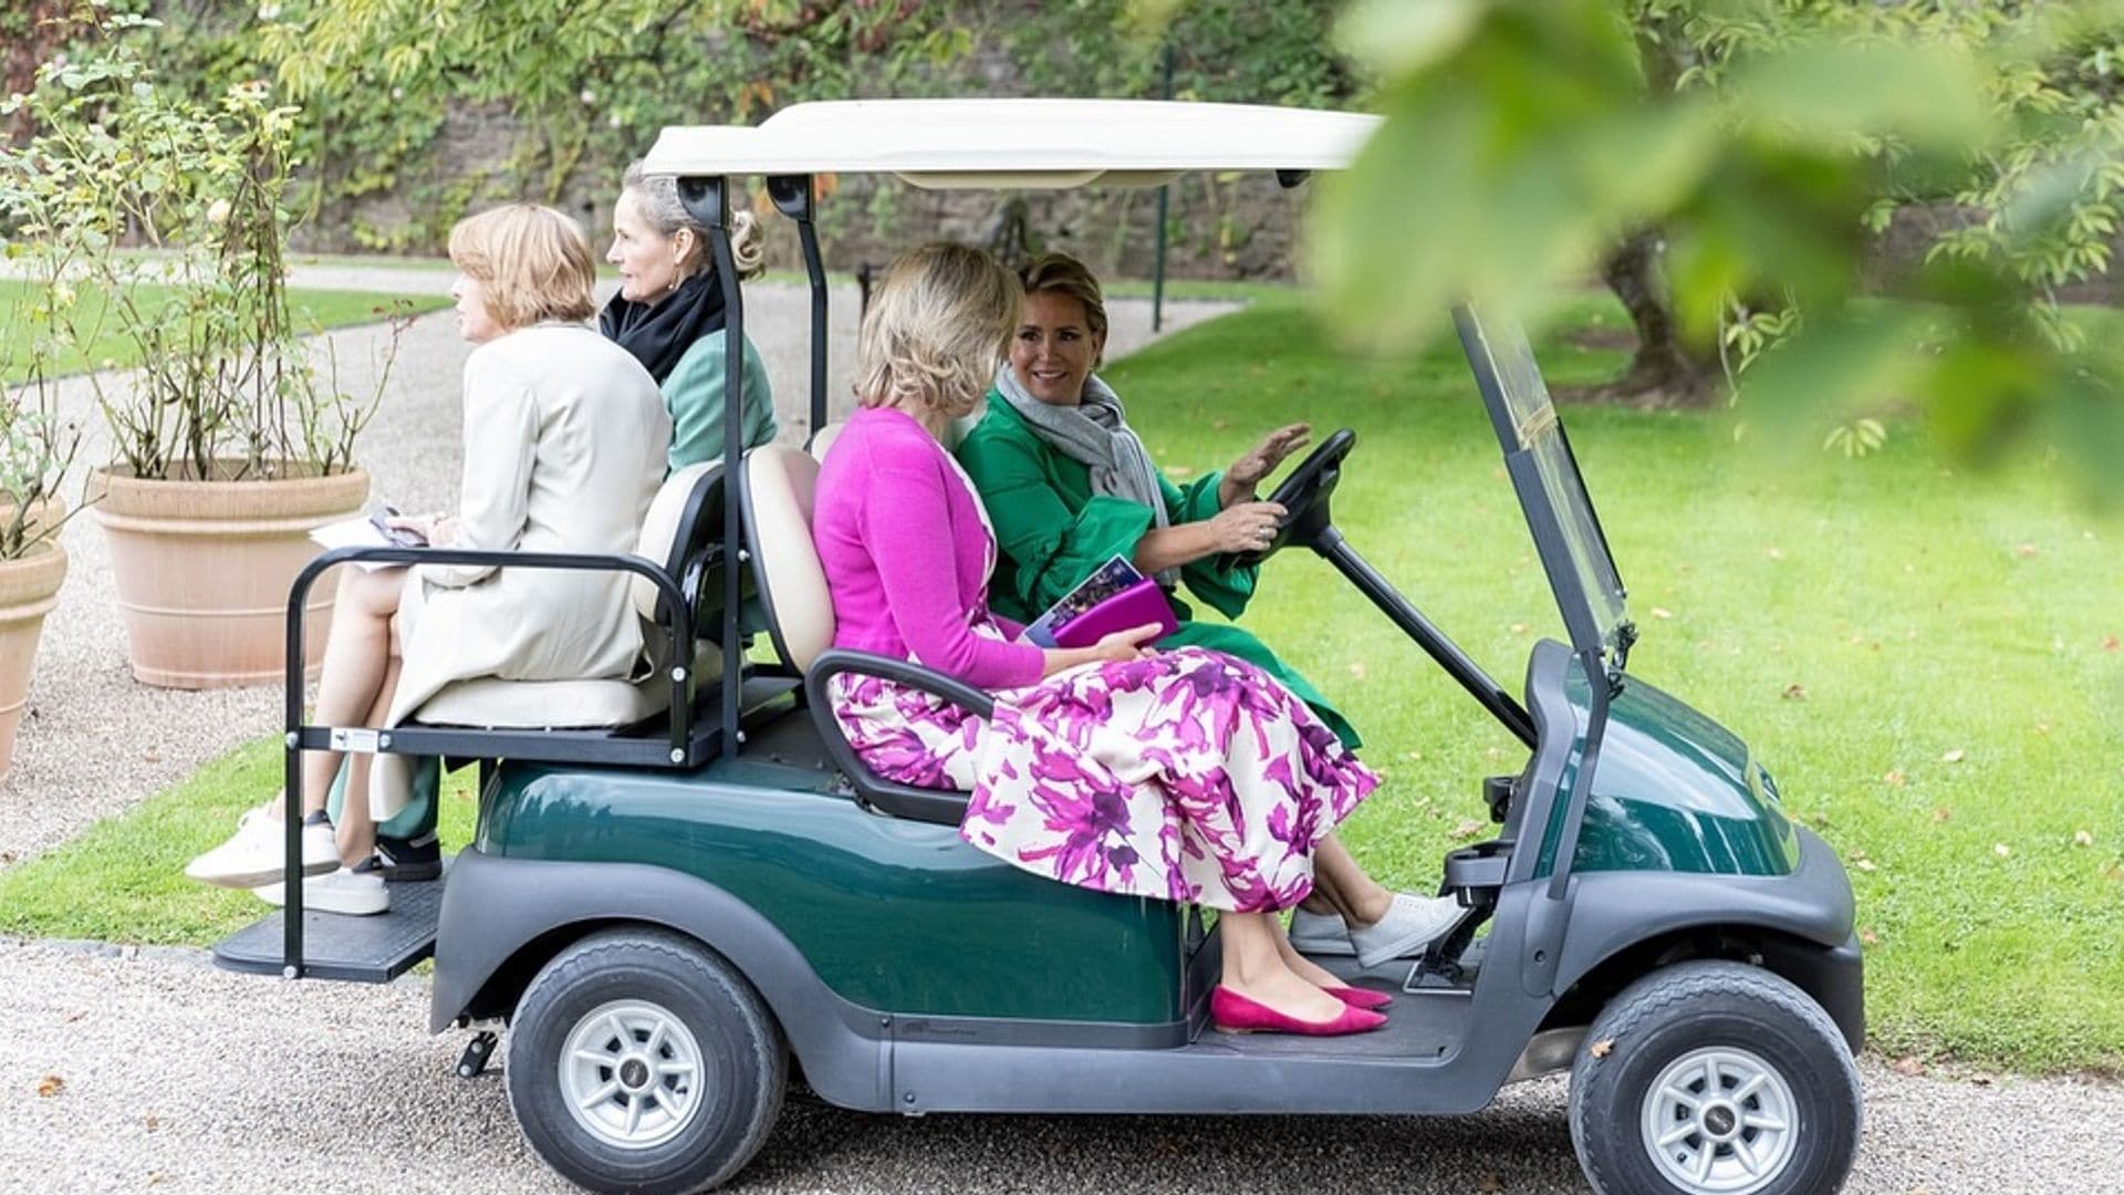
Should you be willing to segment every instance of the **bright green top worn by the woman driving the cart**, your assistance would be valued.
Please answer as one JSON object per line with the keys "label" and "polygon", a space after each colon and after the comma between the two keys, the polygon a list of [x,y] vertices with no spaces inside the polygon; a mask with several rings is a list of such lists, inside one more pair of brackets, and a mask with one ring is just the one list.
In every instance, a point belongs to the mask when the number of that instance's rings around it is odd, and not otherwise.
{"label": "bright green top worn by the woman driving the cart", "polygon": [[[996,578],[988,602],[1005,619],[1028,623],[1111,557],[1136,557],[1136,542],[1158,523],[1151,508],[1092,493],[1092,470],[1041,440],[1000,393],[958,444],[958,464],[981,491],[996,525]],[[1221,510],[1213,472],[1185,487],[1158,474],[1168,523],[1196,523]],[[1181,583],[1206,606],[1236,619],[1253,598],[1257,568],[1219,570],[1215,557],[1181,566]],[[1172,602],[1185,621],[1189,610]]]}

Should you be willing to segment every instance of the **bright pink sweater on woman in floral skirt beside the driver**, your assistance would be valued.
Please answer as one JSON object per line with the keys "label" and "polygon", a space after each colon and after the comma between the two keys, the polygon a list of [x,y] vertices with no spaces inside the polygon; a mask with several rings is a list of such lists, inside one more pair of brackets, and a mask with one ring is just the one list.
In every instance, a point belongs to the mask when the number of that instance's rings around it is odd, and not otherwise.
{"label": "bright pink sweater on woman in floral skirt beside the driver", "polygon": [[850,417],[818,470],[811,542],[833,591],[833,646],[913,659],[990,691],[1041,678],[1041,649],[969,627],[988,604],[994,540],[943,444],[911,415]]}

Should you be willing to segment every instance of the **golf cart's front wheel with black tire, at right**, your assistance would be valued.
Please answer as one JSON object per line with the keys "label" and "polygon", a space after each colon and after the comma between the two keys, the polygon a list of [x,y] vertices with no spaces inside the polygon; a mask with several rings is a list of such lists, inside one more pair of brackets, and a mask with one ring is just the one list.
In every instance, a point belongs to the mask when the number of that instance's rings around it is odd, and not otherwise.
{"label": "golf cart's front wheel with black tire, at right", "polygon": [[[1714,1084],[1691,1112],[1682,1097]],[[1858,1152],[1844,1033],[1808,993],[1744,963],[1676,963],[1623,989],[1578,1048],[1570,1099],[1572,1144],[1601,1195],[1816,1195],[1842,1189]]]}

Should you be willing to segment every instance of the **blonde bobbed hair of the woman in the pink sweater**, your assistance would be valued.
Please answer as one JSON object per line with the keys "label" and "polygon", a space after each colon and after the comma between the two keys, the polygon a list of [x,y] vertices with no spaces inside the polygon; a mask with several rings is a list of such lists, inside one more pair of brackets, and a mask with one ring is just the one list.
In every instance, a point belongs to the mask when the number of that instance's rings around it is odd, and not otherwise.
{"label": "blonde bobbed hair of the woman in the pink sweater", "polygon": [[892,259],[856,338],[856,402],[960,417],[996,378],[1024,289],[994,257],[924,245]]}

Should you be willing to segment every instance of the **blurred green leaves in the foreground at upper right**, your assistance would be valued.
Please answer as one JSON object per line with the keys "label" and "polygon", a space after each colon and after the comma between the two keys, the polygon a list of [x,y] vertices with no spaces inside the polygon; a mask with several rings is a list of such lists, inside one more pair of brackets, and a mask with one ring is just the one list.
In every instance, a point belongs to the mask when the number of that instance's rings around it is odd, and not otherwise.
{"label": "blurred green leaves in the foreground at upper right", "polygon": [[[2109,264],[2120,30],[2118,0],[1364,2],[1342,36],[1387,123],[1325,185],[1319,274],[1357,342],[1406,347],[1470,296],[1540,321],[1652,228],[1676,336],[1750,413],[1848,451],[1916,415],[2116,506],[2124,347],[2056,291]],[[1867,272],[1909,204],[1963,219]]]}

